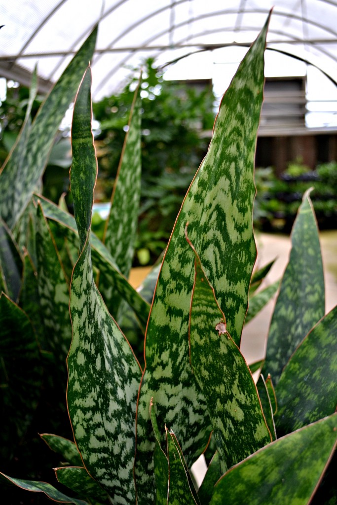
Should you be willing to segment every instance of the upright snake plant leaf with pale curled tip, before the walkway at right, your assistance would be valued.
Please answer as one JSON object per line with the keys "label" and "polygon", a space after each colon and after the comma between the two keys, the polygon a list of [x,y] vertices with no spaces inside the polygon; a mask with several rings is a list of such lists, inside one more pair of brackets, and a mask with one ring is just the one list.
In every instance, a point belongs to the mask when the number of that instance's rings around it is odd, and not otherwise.
{"label": "upright snake plant leaf with pale curled tip, before the walkway at right", "polygon": [[270,373],[275,385],[296,347],[325,314],[321,249],[309,192],[294,223],[290,259],[270,323],[262,373]]}

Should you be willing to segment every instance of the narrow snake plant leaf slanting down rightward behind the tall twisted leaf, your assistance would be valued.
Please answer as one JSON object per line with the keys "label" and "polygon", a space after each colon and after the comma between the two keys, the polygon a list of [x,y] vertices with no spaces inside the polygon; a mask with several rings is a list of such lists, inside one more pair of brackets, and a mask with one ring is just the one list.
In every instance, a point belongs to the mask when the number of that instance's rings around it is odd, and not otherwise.
{"label": "narrow snake plant leaf slanting down rightward behind the tall twisted leaf", "polygon": [[[64,228],[65,233],[67,233],[67,238],[71,243],[76,243],[76,240],[78,242],[74,217],[67,212],[62,211],[59,207],[43,196],[35,196],[40,200],[44,216],[47,219],[52,219],[56,223],[60,223],[60,227]],[[120,273],[114,259],[105,245],[94,234],[91,233],[90,237],[92,263],[100,270],[100,278],[102,279],[102,276],[107,277],[107,283],[110,282],[112,288],[115,288],[121,294],[129,306],[132,307],[139,321],[146,326],[150,313],[149,304],[143,300],[143,298]]]}

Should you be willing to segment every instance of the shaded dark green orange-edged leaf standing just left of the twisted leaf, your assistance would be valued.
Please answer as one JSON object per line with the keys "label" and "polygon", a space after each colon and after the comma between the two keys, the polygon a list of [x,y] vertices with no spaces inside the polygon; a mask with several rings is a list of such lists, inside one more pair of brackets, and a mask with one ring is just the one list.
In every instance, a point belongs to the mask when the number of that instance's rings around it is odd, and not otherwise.
{"label": "shaded dark green orange-edged leaf standing just left of the twisted leaf", "polygon": [[72,335],[69,288],[51,230],[39,205],[36,212],[36,256],[44,329],[55,356],[65,363]]}

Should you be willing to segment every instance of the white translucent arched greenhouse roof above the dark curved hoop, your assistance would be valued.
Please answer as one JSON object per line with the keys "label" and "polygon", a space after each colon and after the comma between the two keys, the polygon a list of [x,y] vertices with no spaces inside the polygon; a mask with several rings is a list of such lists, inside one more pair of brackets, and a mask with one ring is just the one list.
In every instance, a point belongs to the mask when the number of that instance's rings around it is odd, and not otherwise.
{"label": "white translucent arched greenhouse roof above the dark curved hoop", "polygon": [[0,75],[48,89],[96,23],[95,99],[120,88],[143,60],[248,47],[274,7],[267,47],[295,55],[337,81],[337,0],[11,0],[0,5]]}

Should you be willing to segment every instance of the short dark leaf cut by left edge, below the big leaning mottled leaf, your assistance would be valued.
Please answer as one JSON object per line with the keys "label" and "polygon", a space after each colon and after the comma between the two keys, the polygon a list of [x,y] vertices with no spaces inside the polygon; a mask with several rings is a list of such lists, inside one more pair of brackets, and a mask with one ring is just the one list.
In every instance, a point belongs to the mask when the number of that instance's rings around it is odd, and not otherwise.
{"label": "short dark leaf cut by left edge, below the big leaning mottled leaf", "polygon": [[23,258],[13,234],[0,219],[0,270],[4,279],[4,290],[17,301],[21,288]]}

